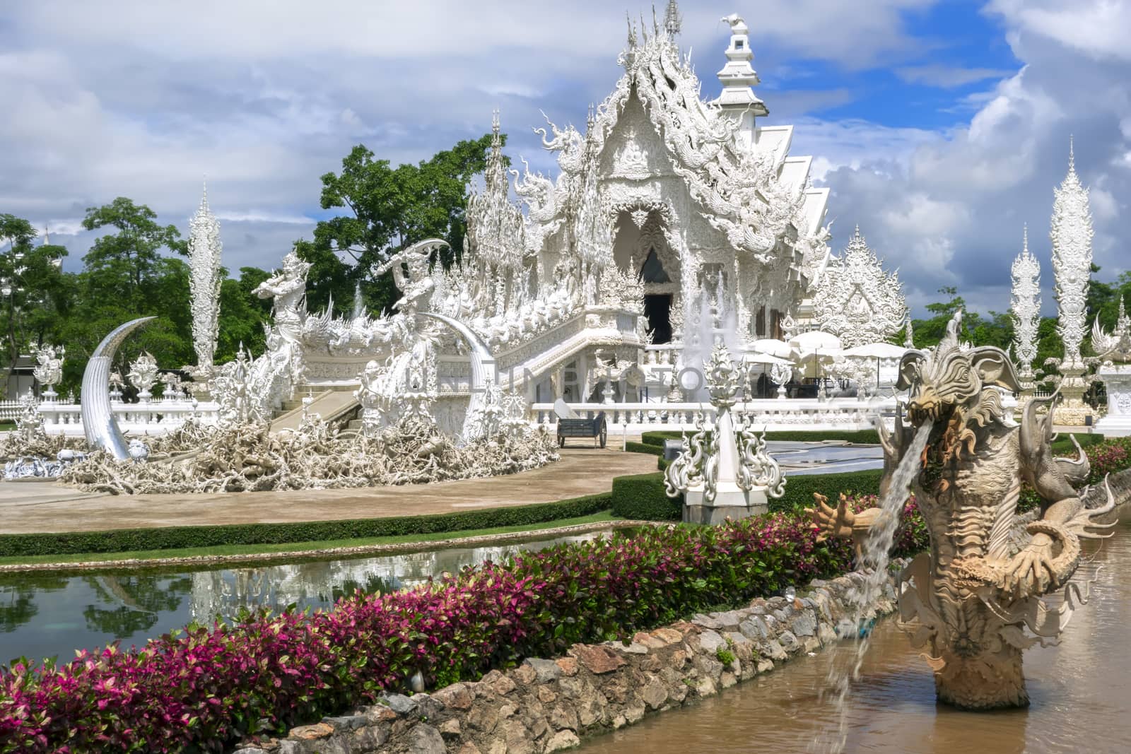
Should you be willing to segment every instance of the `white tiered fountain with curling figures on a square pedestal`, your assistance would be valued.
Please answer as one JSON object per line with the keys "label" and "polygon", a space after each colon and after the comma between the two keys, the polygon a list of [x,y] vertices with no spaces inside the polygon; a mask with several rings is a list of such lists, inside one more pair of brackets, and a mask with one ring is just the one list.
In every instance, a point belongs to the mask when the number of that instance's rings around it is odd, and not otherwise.
{"label": "white tiered fountain with curling figures on a square pedestal", "polygon": [[785,494],[785,476],[766,452],[749,418],[735,424],[731,408],[746,379],[735,369],[726,346],[716,344],[707,364],[707,390],[715,419],[697,417],[697,432],[683,435],[680,457],[664,471],[668,497],[683,494],[683,520],[722,523],[767,510],[768,497]]}

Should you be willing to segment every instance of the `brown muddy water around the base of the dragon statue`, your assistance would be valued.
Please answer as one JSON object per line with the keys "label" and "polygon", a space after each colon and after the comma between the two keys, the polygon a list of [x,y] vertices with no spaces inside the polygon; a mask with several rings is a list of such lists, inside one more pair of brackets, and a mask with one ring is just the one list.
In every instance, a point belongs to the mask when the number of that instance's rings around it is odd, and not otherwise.
{"label": "brown muddy water around the base of the dragon statue", "polygon": [[[960,712],[934,700],[931,671],[889,618],[872,633],[848,695],[845,752],[1013,754],[1131,753],[1131,513],[1116,534],[1086,543],[1076,580],[1095,579],[1057,647],[1025,653],[1031,704]],[[792,660],[693,707],[595,738],[584,754],[827,752],[839,711],[822,699],[830,662],[851,665],[854,644]],[[830,749],[830,746],[832,747]]]}

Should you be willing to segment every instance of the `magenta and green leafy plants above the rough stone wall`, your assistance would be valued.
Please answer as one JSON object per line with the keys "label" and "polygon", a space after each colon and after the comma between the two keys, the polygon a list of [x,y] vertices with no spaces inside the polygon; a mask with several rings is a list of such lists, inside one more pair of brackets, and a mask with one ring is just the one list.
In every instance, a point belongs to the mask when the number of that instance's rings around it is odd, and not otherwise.
{"label": "magenta and green leafy plants above the rough stone wall", "polygon": [[[921,549],[913,503],[905,513],[898,547]],[[0,752],[224,751],[372,701],[416,670],[441,685],[475,678],[849,565],[846,544],[818,545],[802,517],[776,513],[560,545],[326,612],[190,626],[140,650],[19,661],[0,670]]]}

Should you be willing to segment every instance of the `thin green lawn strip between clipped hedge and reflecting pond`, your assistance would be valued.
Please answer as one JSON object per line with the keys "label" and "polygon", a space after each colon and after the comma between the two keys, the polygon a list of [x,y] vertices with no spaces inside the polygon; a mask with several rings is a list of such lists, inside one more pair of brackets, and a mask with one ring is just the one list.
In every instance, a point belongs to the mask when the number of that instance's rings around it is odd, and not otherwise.
{"label": "thin green lawn strip between clipped hedge and reflecting pond", "polygon": [[426,535],[400,535],[396,537],[363,537],[359,539],[330,539],[323,541],[293,541],[278,545],[218,545],[215,547],[185,547],[181,549],[144,549],[126,553],[89,553],[74,555],[28,555],[15,557],[0,557],[0,565],[12,564],[36,564],[36,563],[90,563],[112,562],[126,560],[149,560],[166,557],[199,557],[219,555],[259,555],[269,553],[292,553],[300,551],[320,551],[335,547],[364,547],[366,545],[400,545],[406,543],[430,543],[442,539],[456,539],[463,537],[482,537],[494,534],[513,534],[516,531],[529,531],[535,534],[543,529],[554,529],[558,527],[577,526],[579,523],[598,523],[602,521],[614,521],[612,511],[602,511],[590,515],[581,515],[572,519],[560,519],[558,521],[545,521],[526,526],[497,527],[493,529],[469,529],[464,531],[448,531],[441,534]]}

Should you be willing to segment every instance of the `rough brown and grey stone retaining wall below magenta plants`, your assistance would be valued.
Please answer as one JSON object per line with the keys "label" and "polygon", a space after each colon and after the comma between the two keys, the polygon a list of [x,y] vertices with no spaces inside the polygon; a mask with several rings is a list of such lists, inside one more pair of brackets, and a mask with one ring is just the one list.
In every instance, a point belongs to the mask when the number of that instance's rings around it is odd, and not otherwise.
{"label": "rough brown and grey stone retaining wall below magenta plants", "polygon": [[[901,567],[901,561],[893,565]],[[898,572],[898,570],[897,570]],[[353,714],[295,728],[236,754],[542,754],[577,746],[645,716],[692,704],[855,633],[851,573],[813,581],[792,604],[754,599],[742,609],[696,615],[629,644],[575,644],[556,660],[530,658],[476,683],[432,694],[389,694]],[[872,606],[895,609],[895,583]],[[733,659],[732,659],[733,658]],[[724,662],[723,660],[728,660]]]}

